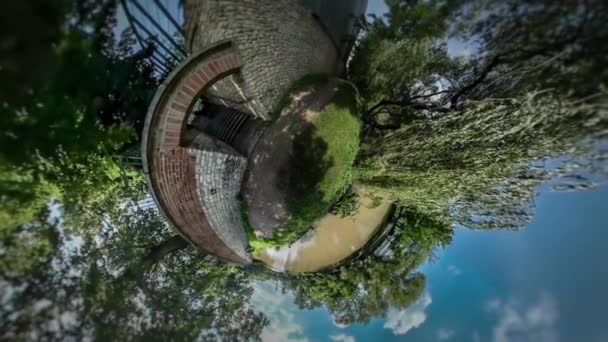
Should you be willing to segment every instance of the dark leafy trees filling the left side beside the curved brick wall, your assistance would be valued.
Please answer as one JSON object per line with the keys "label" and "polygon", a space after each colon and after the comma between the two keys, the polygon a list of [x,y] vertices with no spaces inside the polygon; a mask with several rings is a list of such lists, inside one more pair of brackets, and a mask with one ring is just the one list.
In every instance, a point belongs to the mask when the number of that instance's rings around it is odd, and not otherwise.
{"label": "dark leafy trees filling the left side beside the curved brick wall", "polygon": [[[116,2],[7,5],[3,14],[52,20],[32,20],[25,47],[17,22],[2,32],[2,62],[14,68],[0,72],[15,83],[1,95],[0,218],[10,220],[0,227],[0,338],[259,336],[268,321],[246,304],[243,270],[191,250],[140,208],[143,174],[113,158],[136,140],[158,85],[151,48],[133,51],[128,32],[115,43]],[[22,51],[41,58],[20,64]]]}

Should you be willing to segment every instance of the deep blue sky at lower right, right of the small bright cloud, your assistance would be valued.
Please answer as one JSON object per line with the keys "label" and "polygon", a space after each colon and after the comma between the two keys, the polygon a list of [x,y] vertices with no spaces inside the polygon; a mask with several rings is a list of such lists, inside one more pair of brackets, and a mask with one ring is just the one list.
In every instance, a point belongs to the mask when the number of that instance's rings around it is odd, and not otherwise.
{"label": "deep blue sky at lower right, right of the small bright cloud", "polygon": [[607,199],[607,186],[545,193],[523,231],[459,229],[440,260],[424,267],[437,303],[429,315],[465,334],[456,340],[477,332],[484,341],[606,341]]}

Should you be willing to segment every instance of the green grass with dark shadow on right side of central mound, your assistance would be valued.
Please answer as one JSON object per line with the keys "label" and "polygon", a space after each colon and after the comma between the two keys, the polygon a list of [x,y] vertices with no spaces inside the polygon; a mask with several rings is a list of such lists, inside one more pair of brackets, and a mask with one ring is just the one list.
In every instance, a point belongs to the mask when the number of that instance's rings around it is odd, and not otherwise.
{"label": "green grass with dark shadow on right side of central mound", "polygon": [[340,85],[312,126],[294,140],[287,231],[300,235],[329,211],[351,181],[360,132],[354,87]]}

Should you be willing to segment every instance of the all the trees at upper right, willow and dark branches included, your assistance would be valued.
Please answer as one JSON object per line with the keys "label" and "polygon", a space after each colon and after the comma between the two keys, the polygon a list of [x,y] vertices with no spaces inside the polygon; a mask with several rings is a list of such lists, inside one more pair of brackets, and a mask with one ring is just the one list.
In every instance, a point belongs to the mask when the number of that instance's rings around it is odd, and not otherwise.
{"label": "all the trees at upper right, willow and dark branches included", "polygon": [[[512,229],[539,184],[592,185],[608,125],[603,2],[387,4],[351,70],[368,102],[359,182],[458,224]],[[429,16],[444,24],[426,29]],[[449,56],[450,35],[478,51]]]}

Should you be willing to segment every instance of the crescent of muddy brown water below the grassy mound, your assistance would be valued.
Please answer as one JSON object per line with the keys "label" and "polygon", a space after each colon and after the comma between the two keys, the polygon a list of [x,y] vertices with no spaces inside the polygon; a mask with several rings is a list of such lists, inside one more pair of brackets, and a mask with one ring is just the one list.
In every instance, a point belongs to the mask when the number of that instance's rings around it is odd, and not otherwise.
{"label": "crescent of muddy brown water below the grassy mound", "polygon": [[309,234],[291,246],[267,248],[260,260],[276,271],[314,272],[334,265],[358,251],[374,235],[390,209],[387,200],[370,208],[371,200],[361,196],[361,207],[349,217],[327,215]]}

